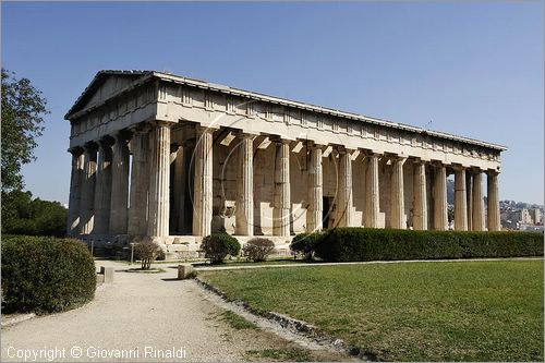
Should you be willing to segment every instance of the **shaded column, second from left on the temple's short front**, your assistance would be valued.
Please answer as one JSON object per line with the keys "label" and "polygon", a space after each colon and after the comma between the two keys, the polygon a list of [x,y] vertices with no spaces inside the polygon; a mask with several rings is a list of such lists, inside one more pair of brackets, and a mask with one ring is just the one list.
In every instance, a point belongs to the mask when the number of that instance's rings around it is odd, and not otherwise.
{"label": "shaded column, second from left on the temple's short front", "polygon": [[82,187],[82,234],[93,232],[95,219],[95,184],[97,170],[97,146],[94,143],[85,145],[84,178]]}

